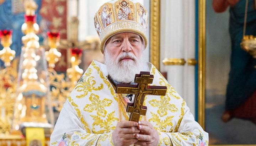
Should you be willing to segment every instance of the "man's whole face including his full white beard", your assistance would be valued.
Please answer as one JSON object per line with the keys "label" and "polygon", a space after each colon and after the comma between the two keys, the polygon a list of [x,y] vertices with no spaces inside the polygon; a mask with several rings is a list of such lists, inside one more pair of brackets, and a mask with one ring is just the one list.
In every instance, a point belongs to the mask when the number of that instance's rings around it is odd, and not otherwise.
{"label": "man's whole face including his full white beard", "polygon": [[104,59],[110,77],[122,83],[133,82],[135,74],[143,69],[143,50],[142,38],[138,34],[123,32],[109,38]]}

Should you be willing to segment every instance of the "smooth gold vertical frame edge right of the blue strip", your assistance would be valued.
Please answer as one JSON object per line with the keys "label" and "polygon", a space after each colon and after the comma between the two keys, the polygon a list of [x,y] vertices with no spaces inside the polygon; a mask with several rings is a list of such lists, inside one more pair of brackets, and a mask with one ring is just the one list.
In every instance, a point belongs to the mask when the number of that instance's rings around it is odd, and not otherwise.
{"label": "smooth gold vertical frame edge right of the blue strip", "polygon": [[198,1],[198,123],[205,128],[205,24],[206,0]]}

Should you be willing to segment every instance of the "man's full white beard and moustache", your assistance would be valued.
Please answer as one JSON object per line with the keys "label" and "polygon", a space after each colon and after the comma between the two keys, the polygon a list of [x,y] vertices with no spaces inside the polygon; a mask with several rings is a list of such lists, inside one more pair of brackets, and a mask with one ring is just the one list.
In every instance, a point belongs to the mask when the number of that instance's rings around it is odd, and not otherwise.
{"label": "man's full white beard and moustache", "polygon": [[[111,76],[113,80],[116,80],[121,83],[130,83],[134,82],[135,74],[139,74],[142,71],[142,66],[144,63],[143,54],[136,58],[133,53],[124,52],[117,57],[113,58],[113,55],[105,50],[105,65],[108,70],[108,75]],[[120,61],[124,57],[132,58],[133,60]]]}

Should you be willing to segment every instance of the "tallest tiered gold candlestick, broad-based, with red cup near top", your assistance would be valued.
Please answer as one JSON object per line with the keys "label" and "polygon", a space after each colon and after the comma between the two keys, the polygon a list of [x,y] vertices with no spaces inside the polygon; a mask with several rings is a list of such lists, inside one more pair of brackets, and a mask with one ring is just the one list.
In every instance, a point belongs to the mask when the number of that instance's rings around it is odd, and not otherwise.
{"label": "tallest tiered gold candlestick, broad-based, with red cup near top", "polygon": [[[35,21],[34,11],[37,8],[35,5],[33,0],[25,1],[26,15],[25,23],[22,25],[22,32],[25,33],[22,37],[24,46],[20,58],[12,128],[21,130],[24,134],[24,128],[37,125],[45,128],[45,133],[49,134],[54,118],[45,52],[44,48],[40,47],[39,37],[36,35],[39,27]],[[46,107],[48,110],[45,109]]]}

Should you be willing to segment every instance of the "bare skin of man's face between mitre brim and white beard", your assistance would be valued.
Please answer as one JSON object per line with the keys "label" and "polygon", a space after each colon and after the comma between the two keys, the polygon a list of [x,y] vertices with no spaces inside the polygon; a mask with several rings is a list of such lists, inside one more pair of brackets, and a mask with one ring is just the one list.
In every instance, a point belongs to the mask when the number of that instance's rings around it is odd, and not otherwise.
{"label": "bare skin of man's face between mitre brim and white beard", "polygon": [[136,33],[122,32],[109,38],[106,42],[105,49],[111,54],[114,60],[118,61],[118,63],[135,61],[134,58],[118,58],[118,56],[121,56],[125,52],[129,52],[138,59],[143,53],[143,42],[142,38]]}

